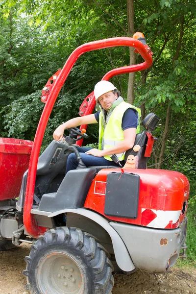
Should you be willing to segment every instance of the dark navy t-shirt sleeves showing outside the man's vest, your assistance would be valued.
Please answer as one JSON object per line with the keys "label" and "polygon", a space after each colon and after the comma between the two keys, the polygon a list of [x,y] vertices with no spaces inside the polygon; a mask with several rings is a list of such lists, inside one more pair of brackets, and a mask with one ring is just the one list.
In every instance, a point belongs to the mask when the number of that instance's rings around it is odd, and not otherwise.
{"label": "dark navy t-shirt sleeves showing outside the man's vest", "polygon": [[[99,122],[99,113],[100,111],[95,113],[95,118],[97,122]],[[137,125],[138,125],[137,122],[138,122],[137,111],[134,109],[128,108],[123,114],[123,120],[122,120],[123,131],[131,127],[137,128]]]}

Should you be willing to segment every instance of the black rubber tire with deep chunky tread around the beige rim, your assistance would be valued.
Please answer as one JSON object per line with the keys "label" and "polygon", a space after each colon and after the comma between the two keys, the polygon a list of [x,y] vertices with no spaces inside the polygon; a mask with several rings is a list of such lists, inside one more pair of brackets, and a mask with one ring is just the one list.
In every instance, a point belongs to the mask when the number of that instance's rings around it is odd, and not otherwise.
{"label": "black rubber tire with deep chunky tread around the beige rim", "polygon": [[90,279],[93,290],[92,293],[86,290],[87,292],[85,291],[84,294],[112,293],[114,285],[113,266],[106,256],[107,250],[97,243],[92,235],[82,232],[80,229],[57,227],[40,236],[36,243],[31,245],[29,256],[25,257],[26,270],[23,271],[23,274],[27,277],[27,286],[32,294],[41,294],[39,286],[36,284],[36,274],[33,270],[36,265],[33,264],[33,261],[37,258],[37,255],[44,254],[42,252],[46,252],[47,247],[52,248],[56,244],[64,245],[65,248],[74,248],[74,251],[77,252],[76,255],[81,256],[85,261],[85,267],[90,270],[89,274],[93,277]]}

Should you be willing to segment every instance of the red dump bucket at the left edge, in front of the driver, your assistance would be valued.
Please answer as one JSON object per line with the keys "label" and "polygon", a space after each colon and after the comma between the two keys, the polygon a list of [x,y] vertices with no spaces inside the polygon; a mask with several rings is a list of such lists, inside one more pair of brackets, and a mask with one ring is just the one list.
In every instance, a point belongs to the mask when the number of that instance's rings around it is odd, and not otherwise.
{"label": "red dump bucket at the left edge, in front of the driver", "polygon": [[0,138],[0,201],[19,196],[32,141]]}

